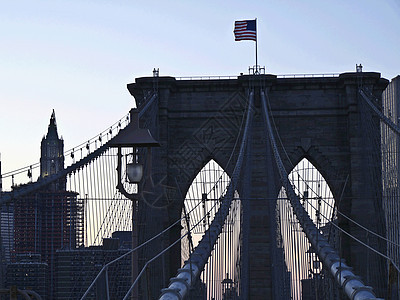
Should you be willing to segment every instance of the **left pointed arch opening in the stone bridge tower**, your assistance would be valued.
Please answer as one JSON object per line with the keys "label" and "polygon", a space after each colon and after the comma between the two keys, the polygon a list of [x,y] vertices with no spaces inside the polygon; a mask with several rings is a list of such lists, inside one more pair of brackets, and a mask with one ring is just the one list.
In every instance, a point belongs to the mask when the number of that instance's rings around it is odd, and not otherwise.
{"label": "left pointed arch opening in the stone bridge tower", "polygon": [[[230,183],[230,176],[213,159],[210,159],[198,172],[191,186],[189,187],[182,208],[182,236],[181,256],[182,264],[190,257],[190,253],[198,246],[207,230],[214,220],[222,201],[232,201],[230,211],[222,225],[218,242],[211,251],[207,262],[209,270],[215,270],[213,275],[207,272],[201,273],[203,289],[216,295],[226,293],[225,282],[232,283],[230,294],[237,294],[237,285],[240,268],[238,267],[241,235],[241,201],[239,194],[235,192],[233,199],[223,196],[227,192]],[[215,230],[213,227],[211,230]],[[203,245],[204,246],[204,245]],[[224,257],[223,262],[214,265],[212,257]]]}

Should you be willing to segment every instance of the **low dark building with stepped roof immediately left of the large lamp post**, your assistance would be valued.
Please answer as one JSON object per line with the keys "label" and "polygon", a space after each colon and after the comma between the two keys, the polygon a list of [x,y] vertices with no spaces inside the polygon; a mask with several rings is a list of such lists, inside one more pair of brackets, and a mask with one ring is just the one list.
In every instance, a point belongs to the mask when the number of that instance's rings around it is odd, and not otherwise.
{"label": "low dark building with stepped roof immediately left of the large lamp post", "polygon": [[[80,299],[105,264],[126,254],[130,248],[125,246],[131,246],[131,232],[119,232],[117,236],[103,239],[101,246],[57,250],[54,299]],[[131,259],[132,255],[126,255],[110,265],[107,279],[103,273],[87,299],[107,299],[106,282],[110,299],[122,299],[132,283]]]}

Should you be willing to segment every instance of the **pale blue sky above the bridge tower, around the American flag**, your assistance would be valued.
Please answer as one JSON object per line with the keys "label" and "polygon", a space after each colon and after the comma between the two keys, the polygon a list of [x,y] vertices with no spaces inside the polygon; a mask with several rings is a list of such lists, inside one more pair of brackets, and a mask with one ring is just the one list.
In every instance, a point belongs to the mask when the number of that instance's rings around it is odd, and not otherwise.
{"label": "pale blue sky above the bridge tower, around the American flag", "polygon": [[238,75],[254,42],[235,20],[258,20],[258,60],[272,74],[400,74],[400,0],[0,1],[3,172],[39,160],[56,111],[70,149],[133,106],[140,76]]}

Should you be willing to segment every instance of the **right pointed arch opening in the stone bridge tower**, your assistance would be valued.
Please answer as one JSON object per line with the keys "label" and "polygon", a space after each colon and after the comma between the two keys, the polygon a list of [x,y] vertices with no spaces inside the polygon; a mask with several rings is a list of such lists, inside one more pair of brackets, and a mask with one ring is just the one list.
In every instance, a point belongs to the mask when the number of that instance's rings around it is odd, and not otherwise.
{"label": "right pointed arch opening in the stone bridge tower", "polygon": [[[331,245],[336,245],[338,233],[332,225],[332,222],[337,224],[335,200],[323,175],[303,157],[288,177],[315,226]],[[311,283],[315,289],[310,291],[314,297],[318,297],[324,292],[331,278],[323,273],[322,263],[315,250],[308,244],[283,188],[277,201],[277,220],[277,238],[282,241],[285,263],[291,276],[292,299],[300,299],[301,295],[307,293],[307,284]],[[321,278],[325,278],[325,281]]]}

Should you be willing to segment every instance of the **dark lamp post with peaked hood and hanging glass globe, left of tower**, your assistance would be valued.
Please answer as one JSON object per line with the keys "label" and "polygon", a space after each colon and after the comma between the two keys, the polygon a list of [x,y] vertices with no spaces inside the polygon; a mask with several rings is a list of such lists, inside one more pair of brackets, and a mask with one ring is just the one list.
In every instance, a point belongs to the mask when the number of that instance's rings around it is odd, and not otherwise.
{"label": "dark lamp post with peaked hood and hanging glass globe, left of tower", "polygon": [[[118,165],[117,165],[117,173],[118,173],[118,181],[117,181],[117,189],[121,192],[122,195],[132,200],[132,249],[137,247],[138,245],[138,235],[137,235],[137,224],[135,222],[136,214],[137,214],[137,199],[139,192],[139,183],[143,178],[143,164],[140,164],[138,159],[138,148],[147,147],[147,174],[146,177],[150,176],[151,172],[151,148],[159,147],[160,144],[151,136],[150,131],[148,129],[139,128],[139,116],[137,109],[130,110],[130,123],[122,129],[117,136],[115,136],[110,141],[110,147],[118,149]],[[132,156],[132,162],[128,163],[128,159],[126,158],[126,178],[122,178],[122,148],[132,148],[132,153],[127,156]],[[135,192],[128,192],[125,189],[125,185],[123,180],[127,184],[137,184],[137,190]],[[135,281],[138,274],[138,254],[137,251],[132,252],[132,283]],[[138,288],[137,286],[134,288],[132,292],[132,299],[138,298]]]}

